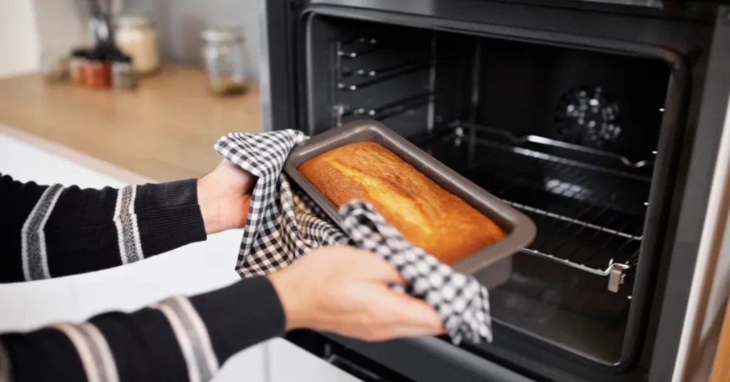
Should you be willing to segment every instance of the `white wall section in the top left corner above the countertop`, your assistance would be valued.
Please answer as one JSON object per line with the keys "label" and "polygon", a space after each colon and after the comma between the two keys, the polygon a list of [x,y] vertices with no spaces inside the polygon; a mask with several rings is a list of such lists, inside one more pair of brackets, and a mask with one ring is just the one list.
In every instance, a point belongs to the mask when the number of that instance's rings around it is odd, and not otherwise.
{"label": "white wall section in the top left corner above the countertop", "polygon": [[0,0],[0,77],[37,71],[39,62],[34,1]]}

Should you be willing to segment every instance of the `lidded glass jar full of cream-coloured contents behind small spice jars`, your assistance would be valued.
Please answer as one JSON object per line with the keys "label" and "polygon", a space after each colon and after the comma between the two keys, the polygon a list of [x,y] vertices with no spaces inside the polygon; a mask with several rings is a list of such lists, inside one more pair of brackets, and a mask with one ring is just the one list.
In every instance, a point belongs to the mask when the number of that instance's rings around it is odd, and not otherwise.
{"label": "lidded glass jar full of cream-coloured contents behind small spice jars", "polygon": [[145,13],[126,13],[117,20],[117,47],[131,58],[137,75],[150,75],[160,66],[155,23]]}

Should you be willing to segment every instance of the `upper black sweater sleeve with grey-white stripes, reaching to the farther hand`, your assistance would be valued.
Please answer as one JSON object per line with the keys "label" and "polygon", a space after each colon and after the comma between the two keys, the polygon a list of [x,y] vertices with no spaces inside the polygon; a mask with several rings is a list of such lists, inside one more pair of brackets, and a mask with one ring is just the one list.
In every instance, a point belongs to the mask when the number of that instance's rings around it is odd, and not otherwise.
{"label": "upper black sweater sleeve with grey-white stripes, reaching to the farther hand", "polygon": [[101,190],[0,176],[0,283],[103,270],[206,239],[196,180]]}

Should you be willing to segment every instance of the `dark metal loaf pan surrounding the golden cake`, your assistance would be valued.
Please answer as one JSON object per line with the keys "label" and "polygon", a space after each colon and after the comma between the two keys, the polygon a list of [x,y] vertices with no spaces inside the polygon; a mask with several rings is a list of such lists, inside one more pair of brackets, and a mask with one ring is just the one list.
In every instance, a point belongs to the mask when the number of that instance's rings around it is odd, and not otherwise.
{"label": "dark metal loaf pan surrounding the golden cake", "polygon": [[[425,151],[377,121],[353,121],[315,137],[299,142],[289,154],[284,171],[324,212],[342,228],[342,218],[320,191],[312,186],[297,167],[333,148],[356,142],[377,142],[429,177],[434,183],[459,196],[480,213],[491,218],[507,236],[451,265],[454,270],[477,278],[488,288],[504,283],[512,272],[512,254],[520,251],[535,237],[535,224],[523,213],[506,205],[471,180],[437,161]],[[478,274],[477,274],[478,273]]]}

